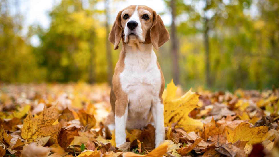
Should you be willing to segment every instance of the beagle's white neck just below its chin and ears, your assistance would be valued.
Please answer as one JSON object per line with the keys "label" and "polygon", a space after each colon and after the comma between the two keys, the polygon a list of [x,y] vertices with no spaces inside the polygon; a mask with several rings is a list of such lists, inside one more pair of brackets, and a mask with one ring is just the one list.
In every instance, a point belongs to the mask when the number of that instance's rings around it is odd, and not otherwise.
{"label": "beagle's white neck just below its chin and ears", "polygon": [[125,65],[136,69],[146,69],[150,64],[157,64],[157,57],[152,44],[123,43]]}

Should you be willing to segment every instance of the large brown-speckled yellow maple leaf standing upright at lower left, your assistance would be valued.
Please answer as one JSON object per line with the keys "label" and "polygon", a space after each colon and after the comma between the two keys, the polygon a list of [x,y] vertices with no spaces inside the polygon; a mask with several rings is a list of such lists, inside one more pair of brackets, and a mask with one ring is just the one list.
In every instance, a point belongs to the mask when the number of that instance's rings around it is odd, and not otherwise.
{"label": "large brown-speckled yellow maple leaf standing upright at lower left", "polygon": [[34,141],[37,138],[52,136],[56,138],[60,129],[60,124],[52,125],[58,118],[58,110],[56,106],[44,108],[38,118],[33,118],[31,112],[23,120],[21,129],[21,137],[27,141]]}

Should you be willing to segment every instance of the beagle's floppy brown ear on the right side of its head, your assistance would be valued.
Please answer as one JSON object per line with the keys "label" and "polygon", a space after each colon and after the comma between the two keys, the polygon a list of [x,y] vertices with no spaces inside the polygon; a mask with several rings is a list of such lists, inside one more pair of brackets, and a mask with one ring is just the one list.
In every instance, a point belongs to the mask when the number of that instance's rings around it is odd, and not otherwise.
{"label": "beagle's floppy brown ear on the right side of its head", "polygon": [[167,31],[160,15],[157,15],[155,11],[153,12],[153,17],[153,25],[150,29],[150,39],[152,45],[158,50],[159,47],[169,40],[169,32]]}

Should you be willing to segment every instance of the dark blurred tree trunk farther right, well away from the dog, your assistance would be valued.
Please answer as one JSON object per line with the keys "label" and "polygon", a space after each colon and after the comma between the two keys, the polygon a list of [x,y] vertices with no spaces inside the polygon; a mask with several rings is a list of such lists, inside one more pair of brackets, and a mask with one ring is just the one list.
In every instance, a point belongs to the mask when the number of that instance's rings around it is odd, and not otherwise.
{"label": "dark blurred tree trunk farther right, well away from the dog", "polygon": [[[206,12],[208,9],[208,4],[207,4],[207,0],[205,0],[206,2],[206,7],[204,9],[204,11]],[[205,19],[205,23],[204,23],[204,27],[205,27],[205,31],[203,33],[203,38],[204,38],[204,46],[205,46],[205,79],[206,79],[206,84],[208,87],[211,87],[211,78],[210,78],[210,50],[209,50],[209,39],[208,39],[208,19],[206,17],[206,15],[204,15],[204,19]]]}

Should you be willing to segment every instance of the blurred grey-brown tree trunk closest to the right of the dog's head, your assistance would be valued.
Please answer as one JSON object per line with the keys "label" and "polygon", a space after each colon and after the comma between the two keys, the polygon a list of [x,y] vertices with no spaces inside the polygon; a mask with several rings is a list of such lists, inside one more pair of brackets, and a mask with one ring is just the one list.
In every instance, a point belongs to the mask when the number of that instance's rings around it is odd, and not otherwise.
{"label": "blurred grey-brown tree trunk closest to the right of the dog's head", "polygon": [[178,40],[176,35],[176,26],[175,26],[175,18],[176,18],[176,8],[175,8],[175,0],[171,0],[171,54],[172,54],[172,63],[173,63],[173,81],[175,84],[179,84],[179,64],[178,64]]}

